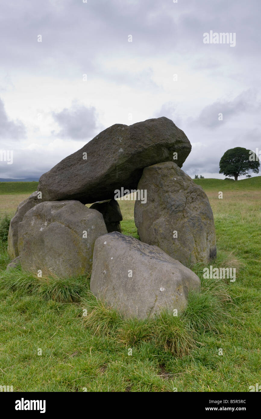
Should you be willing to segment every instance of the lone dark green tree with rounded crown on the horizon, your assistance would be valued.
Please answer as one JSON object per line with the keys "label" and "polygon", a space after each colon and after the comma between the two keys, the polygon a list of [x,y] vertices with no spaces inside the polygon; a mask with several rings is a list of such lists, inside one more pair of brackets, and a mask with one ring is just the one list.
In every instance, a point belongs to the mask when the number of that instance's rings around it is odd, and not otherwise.
{"label": "lone dark green tree with rounded crown on the horizon", "polygon": [[[250,160],[250,156],[252,156]],[[220,173],[223,173],[228,177],[235,177],[235,181],[238,180],[238,176],[248,175],[248,171],[252,170],[253,173],[259,173],[259,160],[256,154],[247,150],[243,147],[235,147],[227,150],[220,159]]]}

